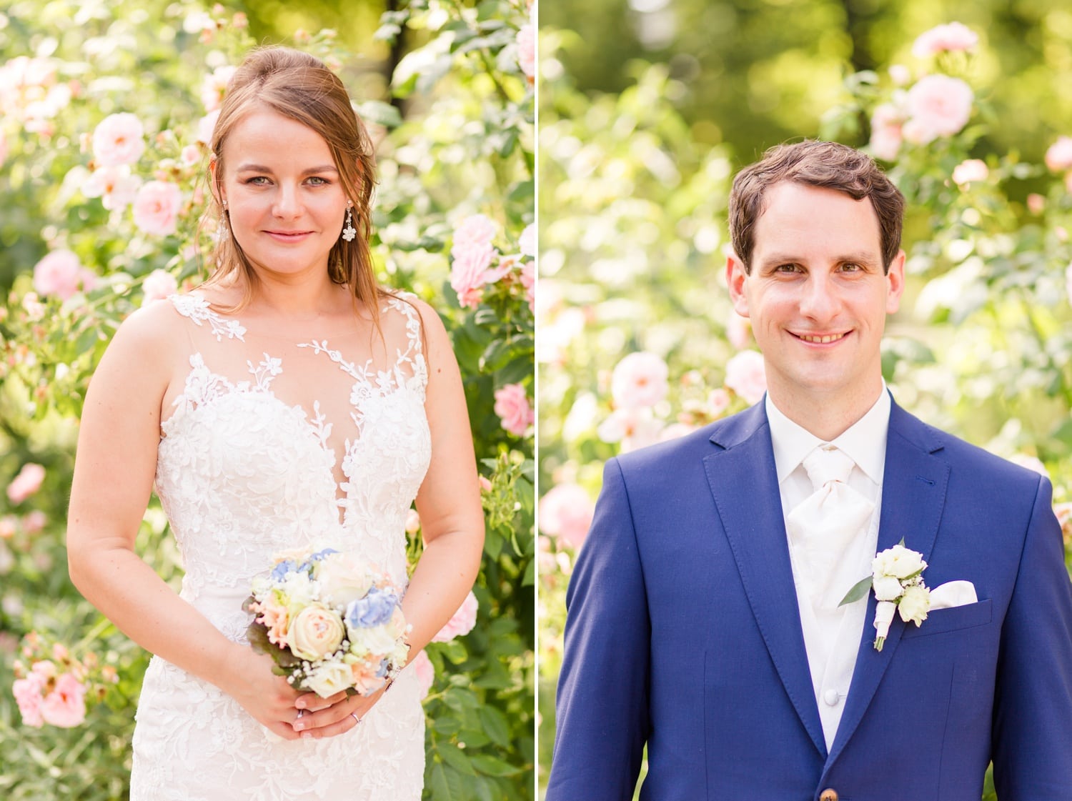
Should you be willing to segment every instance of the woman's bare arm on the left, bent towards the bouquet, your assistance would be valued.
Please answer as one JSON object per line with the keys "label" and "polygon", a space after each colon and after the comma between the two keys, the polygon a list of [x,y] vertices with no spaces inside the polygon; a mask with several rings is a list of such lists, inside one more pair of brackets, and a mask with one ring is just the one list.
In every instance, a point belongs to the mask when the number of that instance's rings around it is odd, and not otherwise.
{"label": "woman's bare arm on the left, bent towards the bouquet", "polygon": [[71,507],[68,563],[79,592],[143,648],[233,696],[281,737],[297,735],[297,693],[267,657],[224,637],[134,551],[157,469],[161,404],[178,345],[169,305],[120,326],[86,395]]}

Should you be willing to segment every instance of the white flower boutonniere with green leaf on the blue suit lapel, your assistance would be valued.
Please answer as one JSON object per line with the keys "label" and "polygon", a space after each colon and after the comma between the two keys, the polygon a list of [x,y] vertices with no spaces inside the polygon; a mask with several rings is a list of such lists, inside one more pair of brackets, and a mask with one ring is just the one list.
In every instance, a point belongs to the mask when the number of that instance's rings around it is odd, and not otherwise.
{"label": "white flower boutonniere with green leaf on the blue suit lapel", "polygon": [[927,563],[923,554],[909,550],[902,539],[893,548],[887,548],[872,562],[872,575],[858,581],[838,606],[851,604],[867,595],[874,589],[878,605],[875,607],[875,650],[881,651],[885,636],[890,633],[893,611],[900,613],[906,623],[917,626],[927,619],[930,608],[930,591],[923,583],[923,572]]}

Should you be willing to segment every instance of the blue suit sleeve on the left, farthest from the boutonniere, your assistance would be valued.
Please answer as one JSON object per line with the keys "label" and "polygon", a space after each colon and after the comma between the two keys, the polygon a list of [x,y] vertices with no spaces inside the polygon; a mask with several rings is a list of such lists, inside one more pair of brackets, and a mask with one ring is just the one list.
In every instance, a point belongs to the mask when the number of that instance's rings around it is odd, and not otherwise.
{"label": "blue suit sleeve on the left, farthest from the boutonniere", "polygon": [[566,609],[546,801],[629,801],[649,731],[651,622],[629,499],[613,459]]}

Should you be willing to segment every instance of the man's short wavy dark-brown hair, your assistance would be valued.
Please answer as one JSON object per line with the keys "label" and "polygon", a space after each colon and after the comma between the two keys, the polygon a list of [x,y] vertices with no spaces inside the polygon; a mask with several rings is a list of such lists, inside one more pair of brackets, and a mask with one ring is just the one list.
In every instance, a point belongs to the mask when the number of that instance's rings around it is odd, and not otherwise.
{"label": "man's short wavy dark-brown hair", "polygon": [[781,181],[832,189],[853,199],[868,198],[878,217],[882,270],[900,250],[900,228],[905,217],[905,196],[867,155],[836,142],[806,140],[776,145],[762,160],[736,174],[730,190],[730,239],[733,250],[751,270],[756,222],[762,216],[763,197]]}

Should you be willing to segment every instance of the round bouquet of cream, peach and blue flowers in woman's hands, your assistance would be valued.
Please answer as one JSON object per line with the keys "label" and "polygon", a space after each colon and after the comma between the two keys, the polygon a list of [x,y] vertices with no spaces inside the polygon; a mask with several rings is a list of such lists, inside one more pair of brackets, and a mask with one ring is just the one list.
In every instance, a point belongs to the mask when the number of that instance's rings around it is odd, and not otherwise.
{"label": "round bouquet of cream, peach and blue flowers in woman's hands", "polygon": [[375,693],[410,651],[398,589],[331,548],[277,557],[269,576],[253,579],[242,608],[256,615],[247,629],[253,650],[271,656],[294,687],[322,698]]}

